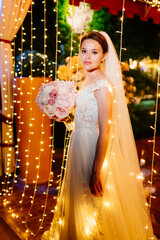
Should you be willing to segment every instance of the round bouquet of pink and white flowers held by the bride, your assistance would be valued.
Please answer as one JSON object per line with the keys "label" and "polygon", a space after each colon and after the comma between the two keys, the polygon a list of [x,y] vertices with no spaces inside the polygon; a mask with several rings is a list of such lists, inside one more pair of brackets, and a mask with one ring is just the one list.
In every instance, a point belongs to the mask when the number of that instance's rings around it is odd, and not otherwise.
{"label": "round bouquet of pink and white flowers held by the bride", "polygon": [[73,81],[52,81],[42,83],[36,103],[49,118],[65,121],[68,117],[68,120],[72,121],[71,112],[73,112],[76,97],[77,90]]}

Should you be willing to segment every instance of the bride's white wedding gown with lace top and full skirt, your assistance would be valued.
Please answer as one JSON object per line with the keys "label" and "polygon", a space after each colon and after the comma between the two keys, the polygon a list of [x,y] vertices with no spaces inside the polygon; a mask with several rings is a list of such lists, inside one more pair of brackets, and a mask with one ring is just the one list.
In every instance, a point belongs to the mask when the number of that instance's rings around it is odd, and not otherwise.
{"label": "bride's white wedding gown with lace top and full skirt", "polygon": [[114,136],[110,136],[102,168],[103,197],[94,197],[90,192],[99,134],[94,91],[105,87],[111,89],[110,83],[98,80],[78,94],[67,170],[51,228],[42,240],[156,239],[145,206],[142,181],[136,178],[140,173],[138,161],[136,166],[120,162],[121,158],[112,149]]}

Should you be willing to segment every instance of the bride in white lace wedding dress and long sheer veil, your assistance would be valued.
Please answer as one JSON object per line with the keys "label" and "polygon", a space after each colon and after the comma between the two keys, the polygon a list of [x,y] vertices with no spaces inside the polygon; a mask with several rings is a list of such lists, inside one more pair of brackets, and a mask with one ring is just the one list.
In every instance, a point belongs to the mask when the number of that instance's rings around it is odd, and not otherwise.
{"label": "bride in white lace wedding dress and long sheer veil", "polygon": [[61,193],[42,240],[156,239],[114,46],[106,33],[92,31],[80,56],[86,80]]}

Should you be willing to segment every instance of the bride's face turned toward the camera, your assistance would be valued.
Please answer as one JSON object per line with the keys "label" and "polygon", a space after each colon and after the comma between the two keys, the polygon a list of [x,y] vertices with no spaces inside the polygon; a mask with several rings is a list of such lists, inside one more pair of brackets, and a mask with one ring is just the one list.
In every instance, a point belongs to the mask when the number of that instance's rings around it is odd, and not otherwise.
{"label": "bride's face turned toward the camera", "polygon": [[105,55],[102,46],[96,40],[86,39],[83,41],[80,57],[82,65],[86,71],[92,72],[99,69]]}

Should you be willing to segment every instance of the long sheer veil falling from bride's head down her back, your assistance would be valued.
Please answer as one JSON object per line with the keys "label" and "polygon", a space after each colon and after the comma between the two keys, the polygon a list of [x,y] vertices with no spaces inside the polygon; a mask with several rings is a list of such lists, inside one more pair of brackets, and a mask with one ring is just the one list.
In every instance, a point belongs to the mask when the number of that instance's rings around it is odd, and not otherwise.
{"label": "long sheer veil falling from bride's head down her back", "polygon": [[[116,176],[111,177],[112,175],[107,174],[106,184],[114,184],[118,192],[119,202],[124,210],[126,222],[128,222],[127,227],[128,229],[135,228],[135,239],[147,239],[144,236],[150,237],[148,239],[155,239],[153,238],[135,140],[124,95],[120,62],[108,34],[100,33],[108,43],[109,50],[103,63],[103,70],[113,89],[113,115],[107,161],[108,172],[114,171]],[[115,202],[115,204],[117,203]]]}

